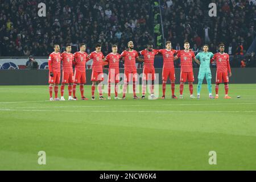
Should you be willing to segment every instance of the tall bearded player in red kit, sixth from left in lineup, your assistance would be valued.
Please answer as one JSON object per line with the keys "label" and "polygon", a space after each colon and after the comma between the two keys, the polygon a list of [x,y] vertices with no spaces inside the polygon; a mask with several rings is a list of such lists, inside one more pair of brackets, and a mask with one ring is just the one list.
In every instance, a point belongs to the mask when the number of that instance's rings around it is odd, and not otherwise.
{"label": "tall bearded player in red kit, sixth from left in lineup", "polygon": [[138,55],[138,52],[135,51],[134,44],[130,41],[127,44],[129,51],[123,51],[121,53],[121,58],[125,60],[125,83],[123,85],[123,100],[125,99],[125,94],[127,90],[127,85],[131,80],[133,80],[133,98],[138,99],[136,96],[136,82],[137,82],[137,68],[136,68],[136,60],[143,61]]}

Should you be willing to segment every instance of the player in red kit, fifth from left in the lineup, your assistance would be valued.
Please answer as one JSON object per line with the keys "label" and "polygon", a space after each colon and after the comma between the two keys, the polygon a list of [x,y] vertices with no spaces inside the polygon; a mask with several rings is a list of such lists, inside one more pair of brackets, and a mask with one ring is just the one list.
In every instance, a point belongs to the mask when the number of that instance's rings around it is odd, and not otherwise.
{"label": "player in red kit, fifth from left in the lineup", "polygon": [[108,77],[108,100],[111,100],[110,91],[111,85],[115,84],[115,100],[118,100],[118,83],[120,81],[119,78],[119,59],[121,55],[117,53],[117,45],[112,46],[112,53],[109,53],[106,56],[106,62],[109,63],[109,77]]}

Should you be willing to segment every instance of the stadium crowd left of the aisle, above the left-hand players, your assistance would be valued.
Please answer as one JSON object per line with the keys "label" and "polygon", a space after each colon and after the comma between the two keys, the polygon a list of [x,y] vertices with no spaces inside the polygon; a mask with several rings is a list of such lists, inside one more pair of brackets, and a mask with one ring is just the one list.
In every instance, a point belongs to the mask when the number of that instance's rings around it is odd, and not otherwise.
{"label": "stadium crowd left of the aisle, above the left-hand players", "polygon": [[88,52],[102,44],[106,55],[110,43],[120,51],[133,39],[136,48],[154,42],[151,18],[152,1],[96,0],[46,3],[46,17],[38,16],[41,0],[1,1],[0,56],[48,56],[54,43],[85,42]]}

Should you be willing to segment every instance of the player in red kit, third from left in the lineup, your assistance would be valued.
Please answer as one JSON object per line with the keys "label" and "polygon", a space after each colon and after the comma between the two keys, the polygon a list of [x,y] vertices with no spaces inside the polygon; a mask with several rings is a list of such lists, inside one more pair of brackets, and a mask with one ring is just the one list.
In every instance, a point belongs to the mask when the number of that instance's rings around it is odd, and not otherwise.
{"label": "player in red kit, third from left in the lineup", "polygon": [[88,100],[88,98],[84,97],[84,84],[86,84],[86,74],[85,67],[86,61],[89,59],[88,54],[85,52],[86,45],[84,43],[80,44],[80,51],[74,54],[75,60],[73,61],[73,65],[75,65],[75,81],[73,84],[73,98],[77,100],[76,97],[76,85],[80,84],[80,92],[81,92],[81,100]]}

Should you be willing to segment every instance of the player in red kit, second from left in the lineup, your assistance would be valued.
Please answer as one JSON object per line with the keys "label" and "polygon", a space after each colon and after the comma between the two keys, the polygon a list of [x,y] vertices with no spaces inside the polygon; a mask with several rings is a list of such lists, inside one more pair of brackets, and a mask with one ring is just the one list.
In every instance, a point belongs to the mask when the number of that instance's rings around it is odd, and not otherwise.
{"label": "player in red kit, second from left in the lineup", "polygon": [[64,98],[64,89],[65,84],[68,84],[68,100],[76,100],[72,97],[72,84],[74,82],[74,75],[73,75],[73,60],[74,55],[71,53],[71,45],[67,44],[66,51],[61,53],[61,60],[63,63],[63,71],[62,71],[62,83],[60,88],[61,93],[61,101],[65,101]]}

